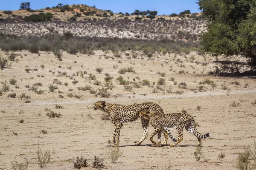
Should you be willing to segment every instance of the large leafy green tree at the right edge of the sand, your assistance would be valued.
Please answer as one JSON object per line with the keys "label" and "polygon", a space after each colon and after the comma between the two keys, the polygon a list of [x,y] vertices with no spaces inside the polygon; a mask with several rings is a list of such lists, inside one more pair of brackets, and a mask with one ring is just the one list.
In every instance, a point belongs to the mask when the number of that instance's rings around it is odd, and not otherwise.
{"label": "large leafy green tree at the right edge of the sand", "polygon": [[241,73],[241,55],[247,70],[256,71],[256,0],[198,0],[199,9],[209,20],[201,36],[202,50],[224,56],[226,64],[216,72]]}

